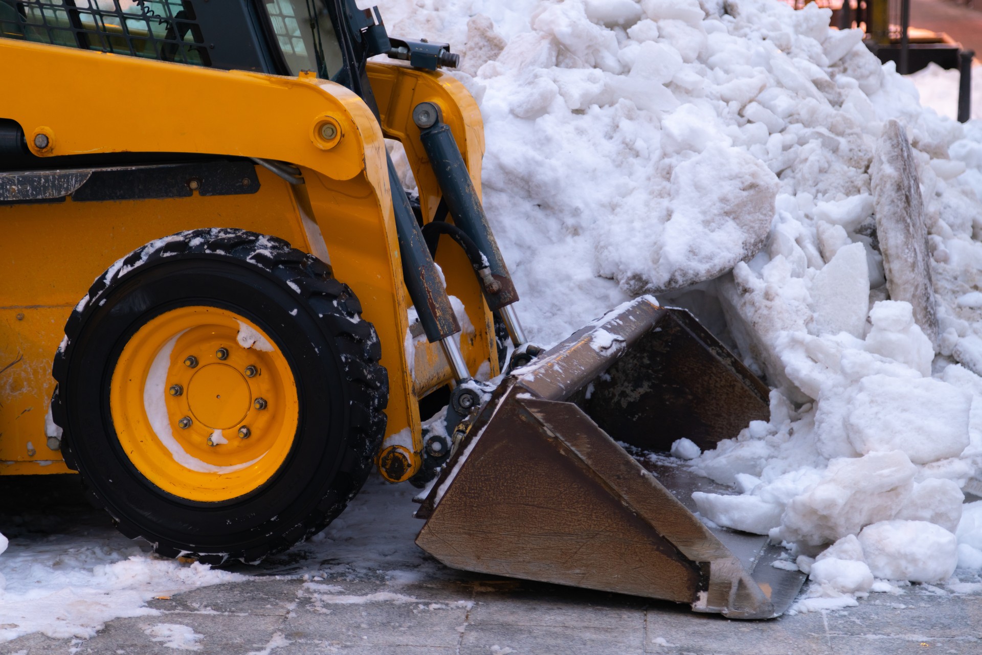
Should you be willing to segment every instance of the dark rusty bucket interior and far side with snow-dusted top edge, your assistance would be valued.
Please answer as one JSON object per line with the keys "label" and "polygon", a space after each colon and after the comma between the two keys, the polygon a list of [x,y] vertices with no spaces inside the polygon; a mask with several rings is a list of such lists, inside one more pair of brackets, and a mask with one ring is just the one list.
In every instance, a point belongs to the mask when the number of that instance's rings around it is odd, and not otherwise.
{"label": "dark rusty bucket interior and far side with snow-dusted top edge", "polygon": [[537,396],[570,400],[618,441],[649,451],[682,437],[712,449],[770,417],[767,387],[719,340],[684,309],[643,298],[517,375]]}

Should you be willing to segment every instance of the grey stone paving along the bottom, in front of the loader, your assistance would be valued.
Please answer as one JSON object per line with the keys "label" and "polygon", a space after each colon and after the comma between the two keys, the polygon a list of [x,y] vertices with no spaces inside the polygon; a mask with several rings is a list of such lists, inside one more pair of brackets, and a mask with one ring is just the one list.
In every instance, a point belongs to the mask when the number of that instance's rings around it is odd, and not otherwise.
{"label": "grey stone paving along the bottom, in front of the loader", "polygon": [[223,655],[982,652],[982,597],[916,588],[848,610],[749,623],[627,596],[466,574],[410,583],[384,576],[313,583],[260,577],[151,607],[162,616],[119,619],[87,641],[32,634],[0,652],[173,655],[174,648],[144,632],[156,624],[191,627],[201,635],[197,652]]}

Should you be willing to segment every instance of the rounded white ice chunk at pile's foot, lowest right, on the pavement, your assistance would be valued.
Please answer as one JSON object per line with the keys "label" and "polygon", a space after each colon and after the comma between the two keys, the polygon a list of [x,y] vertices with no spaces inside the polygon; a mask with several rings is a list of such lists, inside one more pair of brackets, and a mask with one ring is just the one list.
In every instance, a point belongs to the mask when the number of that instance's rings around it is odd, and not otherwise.
{"label": "rounded white ice chunk at pile's foot, lowest right, on the pavement", "polygon": [[867,525],[859,543],[877,577],[911,582],[943,582],[958,563],[955,535],[923,520],[884,520]]}

